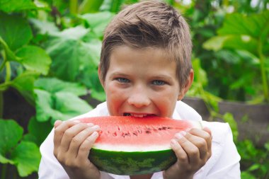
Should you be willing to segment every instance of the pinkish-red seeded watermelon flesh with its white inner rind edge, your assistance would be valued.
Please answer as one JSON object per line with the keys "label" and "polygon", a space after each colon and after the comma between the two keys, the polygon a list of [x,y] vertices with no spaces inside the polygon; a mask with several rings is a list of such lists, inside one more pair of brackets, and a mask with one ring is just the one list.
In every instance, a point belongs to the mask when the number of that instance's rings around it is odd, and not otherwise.
{"label": "pinkish-red seeded watermelon flesh with its white inner rind edge", "polygon": [[110,116],[90,117],[81,121],[99,125],[101,131],[95,146],[102,149],[111,149],[113,146],[113,151],[168,149],[177,132],[199,127],[197,122],[167,117]]}

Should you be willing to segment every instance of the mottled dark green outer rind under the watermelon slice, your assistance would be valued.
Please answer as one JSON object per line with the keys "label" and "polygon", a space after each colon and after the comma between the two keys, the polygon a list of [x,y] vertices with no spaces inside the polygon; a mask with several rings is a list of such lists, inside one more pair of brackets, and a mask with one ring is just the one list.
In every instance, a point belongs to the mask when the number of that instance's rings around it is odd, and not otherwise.
{"label": "mottled dark green outer rind under the watermelon slice", "polygon": [[166,170],[177,160],[172,149],[129,152],[92,148],[88,158],[98,170],[116,175],[156,173]]}

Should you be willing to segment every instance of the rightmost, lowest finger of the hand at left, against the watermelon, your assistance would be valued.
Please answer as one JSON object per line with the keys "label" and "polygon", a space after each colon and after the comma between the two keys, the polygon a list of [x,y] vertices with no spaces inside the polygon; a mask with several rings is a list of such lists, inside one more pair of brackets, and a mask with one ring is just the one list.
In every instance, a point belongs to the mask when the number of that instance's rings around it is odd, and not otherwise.
{"label": "rightmost, lowest finger of the hand at left, against the watermelon", "polygon": [[93,132],[90,136],[88,136],[84,142],[79,147],[79,152],[77,155],[77,158],[79,160],[85,160],[85,158],[88,158],[88,155],[90,154],[90,150],[93,147],[94,142],[96,142],[96,139],[99,137],[98,132]]}

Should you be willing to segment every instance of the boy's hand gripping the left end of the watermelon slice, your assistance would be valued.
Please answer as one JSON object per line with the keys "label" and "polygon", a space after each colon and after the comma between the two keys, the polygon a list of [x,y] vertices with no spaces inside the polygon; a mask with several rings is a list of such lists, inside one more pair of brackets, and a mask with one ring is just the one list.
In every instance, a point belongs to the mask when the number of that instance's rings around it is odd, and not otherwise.
{"label": "boy's hand gripping the left end of the watermelon slice", "polygon": [[100,178],[100,172],[88,160],[100,127],[79,121],[55,122],[54,155],[69,178]]}

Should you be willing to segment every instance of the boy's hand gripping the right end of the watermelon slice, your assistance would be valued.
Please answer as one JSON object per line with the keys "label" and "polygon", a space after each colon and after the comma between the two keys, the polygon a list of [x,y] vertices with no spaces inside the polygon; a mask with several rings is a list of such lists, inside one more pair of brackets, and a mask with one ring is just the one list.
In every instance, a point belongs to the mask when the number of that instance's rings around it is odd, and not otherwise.
{"label": "boy's hand gripping the right end of the watermelon slice", "polygon": [[178,161],[164,171],[165,179],[188,179],[205,165],[211,156],[212,135],[210,129],[191,129],[180,132],[171,140],[171,148]]}

